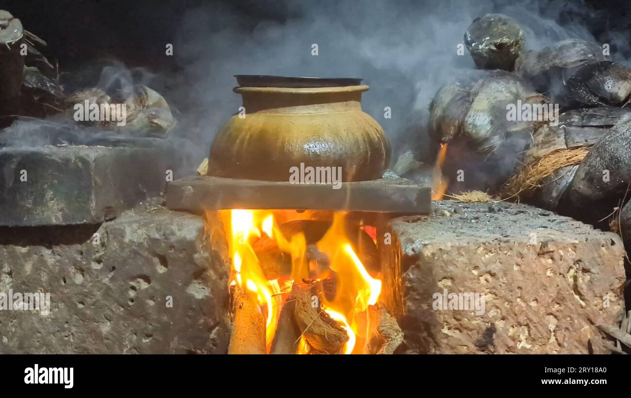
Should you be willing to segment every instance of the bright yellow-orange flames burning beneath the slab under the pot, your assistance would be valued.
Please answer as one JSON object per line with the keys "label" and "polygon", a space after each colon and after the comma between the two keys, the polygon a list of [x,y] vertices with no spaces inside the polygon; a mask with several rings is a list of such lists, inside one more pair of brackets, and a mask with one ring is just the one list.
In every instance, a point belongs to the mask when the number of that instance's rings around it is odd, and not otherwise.
{"label": "bright yellow-orange flames burning beneath the slab under the pot", "polygon": [[[307,213],[307,212],[305,212]],[[287,239],[279,229],[279,220],[287,222],[302,219],[305,213],[287,210],[221,210],[224,225],[229,225],[228,247],[232,258],[232,272],[228,283],[245,289],[252,300],[259,304],[261,313],[266,317],[266,343],[269,348],[274,338],[278,323],[279,310],[286,294],[292,289],[294,281],[306,283],[309,280],[335,278],[336,294],[333,300],[327,300],[322,294],[322,309],[335,321],[338,321],[348,334],[343,353],[362,353],[365,348],[366,331],[363,330],[370,305],[377,304],[382,282],[370,276],[359,256],[353,250],[346,236],[345,212],[333,215],[333,224],[316,246],[329,259],[329,270],[318,271],[319,275],[310,275],[307,261],[307,242],[302,233]],[[310,216],[307,216],[310,217]],[[291,275],[285,278],[268,280],[261,268],[253,244],[262,236],[276,242],[280,251],[290,254],[292,259]],[[265,238],[267,239],[267,238]],[[312,267],[312,272],[317,267]],[[310,346],[302,336],[297,353],[309,353]]]}

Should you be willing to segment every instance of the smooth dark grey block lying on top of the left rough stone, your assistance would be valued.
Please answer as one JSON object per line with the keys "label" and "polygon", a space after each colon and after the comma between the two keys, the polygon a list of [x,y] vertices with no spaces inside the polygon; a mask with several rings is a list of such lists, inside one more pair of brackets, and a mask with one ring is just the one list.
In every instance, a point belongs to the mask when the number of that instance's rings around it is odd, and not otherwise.
{"label": "smooth dark grey block lying on top of the left rough stone", "polygon": [[0,149],[0,225],[113,219],[163,191],[173,169],[168,151],[162,143]]}

